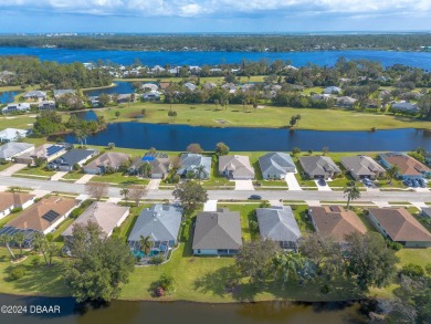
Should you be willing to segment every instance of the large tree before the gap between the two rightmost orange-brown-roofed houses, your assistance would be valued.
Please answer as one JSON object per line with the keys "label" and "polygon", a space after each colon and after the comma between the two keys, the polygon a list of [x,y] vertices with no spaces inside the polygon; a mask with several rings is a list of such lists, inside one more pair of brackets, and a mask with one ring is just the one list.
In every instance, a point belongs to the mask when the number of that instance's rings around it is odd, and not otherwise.
{"label": "large tree before the gap between the two rightmost orange-brown-roofed houses", "polygon": [[382,288],[391,283],[397,273],[398,258],[379,233],[367,232],[346,236],[347,274],[357,285],[368,291],[370,286]]}

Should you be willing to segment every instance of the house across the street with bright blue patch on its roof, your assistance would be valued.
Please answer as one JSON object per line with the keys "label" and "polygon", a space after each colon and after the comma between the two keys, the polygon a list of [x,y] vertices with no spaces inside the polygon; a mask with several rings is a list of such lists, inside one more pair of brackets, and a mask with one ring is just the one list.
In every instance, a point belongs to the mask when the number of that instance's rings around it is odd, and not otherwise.
{"label": "house across the street with bright blue patch on its roof", "polygon": [[134,159],[128,173],[130,175],[138,175],[140,167],[146,163],[153,167],[151,178],[154,179],[164,179],[169,174],[170,160],[168,155],[164,153],[147,153],[144,157]]}

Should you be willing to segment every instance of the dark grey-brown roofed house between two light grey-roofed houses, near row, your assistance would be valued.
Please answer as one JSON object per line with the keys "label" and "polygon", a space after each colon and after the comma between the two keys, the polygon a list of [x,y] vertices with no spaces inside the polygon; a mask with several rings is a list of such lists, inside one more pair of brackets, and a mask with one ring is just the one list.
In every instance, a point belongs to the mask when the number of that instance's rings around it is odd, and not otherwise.
{"label": "dark grey-brown roofed house between two light grey-roofed houses, near row", "polygon": [[233,255],[241,247],[241,221],[238,211],[223,208],[198,213],[192,243],[195,255]]}

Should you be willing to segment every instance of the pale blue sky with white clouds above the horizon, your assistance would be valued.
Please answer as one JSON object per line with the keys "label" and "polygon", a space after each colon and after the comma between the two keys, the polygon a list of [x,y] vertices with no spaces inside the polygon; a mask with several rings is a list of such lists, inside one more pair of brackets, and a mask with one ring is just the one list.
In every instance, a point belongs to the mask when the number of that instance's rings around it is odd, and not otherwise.
{"label": "pale blue sky with white clouds above the horizon", "polygon": [[431,30],[431,0],[0,0],[0,32]]}

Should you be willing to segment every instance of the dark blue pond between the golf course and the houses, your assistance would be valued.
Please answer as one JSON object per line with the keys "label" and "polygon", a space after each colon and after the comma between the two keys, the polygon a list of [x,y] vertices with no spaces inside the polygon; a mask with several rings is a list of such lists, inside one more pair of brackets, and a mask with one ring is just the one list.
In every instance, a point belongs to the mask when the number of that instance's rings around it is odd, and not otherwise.
{"label": "dark blue pond between the golf course and the houses", "polygon": [[[94,118],[87,112],[86,118]],[[73,135],[65,140],[76,143]],[[190,143],[199,143],[204,150],[213,150],[216,144],[224,142],[231,150],[322,150],[330,151],[377,151],[411,150],[418,146],[431,150],[431,132],[423,129],[390,129],[372,132],[319,132],[283,128],[202,127],[175,124],[146,124],[124,122],[108,124],[106,129],[88,136],[90,145],[107,145],[114,142],[118,147],[150,148],[182,151]]]}

